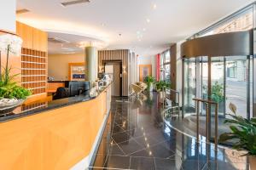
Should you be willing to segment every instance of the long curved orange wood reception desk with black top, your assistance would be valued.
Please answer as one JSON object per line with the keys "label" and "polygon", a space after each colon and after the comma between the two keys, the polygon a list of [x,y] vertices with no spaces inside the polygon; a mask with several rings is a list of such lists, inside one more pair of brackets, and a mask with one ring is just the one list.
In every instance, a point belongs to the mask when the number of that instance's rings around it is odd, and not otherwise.
{"label": "long curved orange wood reception desk with black top", "polygon": [[[101,139],[111,87],[0,118],[0,169],[84,169]],[[42,102],[42,101],[40,101]]]}

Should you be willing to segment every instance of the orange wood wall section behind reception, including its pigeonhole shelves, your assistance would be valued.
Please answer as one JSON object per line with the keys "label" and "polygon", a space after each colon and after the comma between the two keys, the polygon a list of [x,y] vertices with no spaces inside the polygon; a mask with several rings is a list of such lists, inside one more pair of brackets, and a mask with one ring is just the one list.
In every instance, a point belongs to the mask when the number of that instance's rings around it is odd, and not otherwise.
{"label": "orange wood wall section behind reception, including its pigeonhole shelves", "polygon": [[22,38],[21,83],[32,94],[45,94],[47,87],[48,35],[32,26],[16,23],[16,32]]}

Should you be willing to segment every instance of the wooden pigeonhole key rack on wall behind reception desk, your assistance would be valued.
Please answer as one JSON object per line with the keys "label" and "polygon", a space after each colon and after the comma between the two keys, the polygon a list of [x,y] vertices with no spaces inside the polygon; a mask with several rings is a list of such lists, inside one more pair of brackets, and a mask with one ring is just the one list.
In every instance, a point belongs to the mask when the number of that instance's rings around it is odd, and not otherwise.
{"label": "wooden pigeonhole key rack on wall behind reception desk", "polygon": [[32,94],[46,93],[47,87],[47,54],[46,52],[22,48],[21,51],[21,84],[32,90]]}

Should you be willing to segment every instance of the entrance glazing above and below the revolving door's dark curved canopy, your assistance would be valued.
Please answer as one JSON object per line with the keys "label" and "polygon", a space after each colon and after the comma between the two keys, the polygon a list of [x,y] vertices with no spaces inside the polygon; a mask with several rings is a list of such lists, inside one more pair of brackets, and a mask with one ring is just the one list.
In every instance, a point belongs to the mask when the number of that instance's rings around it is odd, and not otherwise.
{"label": "entrance glazing above and below the revolving door's dark curved canopy", "polygon": [[[256,23],[253,22],[256,20],[253,18],[253,9],[256,9],[256,3],[241,9],[236,14],[230,15],[189,39],[251,30],[255,27],[253,23]],[[237,107],[238,115],[253,117],[253,77],[255,77],[253,72],[256,74],[253,62],[255,63],[253,56],[206,56],[183,59],[184,116],[189,116],[193,111],[195,114],[195,101],[191,99],[200,98],[218,101],[219,116],[226,116],[230,113],[229,105],[233,103]],[[211,85],[210,93],[208,92],[209,84]],[[201,105],[201,114],[205,114],[205,109],[205,106]]]}

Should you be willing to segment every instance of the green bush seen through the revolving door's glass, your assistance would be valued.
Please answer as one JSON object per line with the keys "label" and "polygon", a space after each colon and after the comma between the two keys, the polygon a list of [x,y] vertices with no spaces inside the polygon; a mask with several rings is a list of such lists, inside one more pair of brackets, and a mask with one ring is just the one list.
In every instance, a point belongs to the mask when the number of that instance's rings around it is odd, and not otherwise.
{"label": "green bush seen through the revolving door's glass", "polygon": [[212,95],[210,97],[212,101],[215,101],[217,103],[224,101],[224,87],[223,84],[220,84],[218,82],[215,82],[212,85]]}

